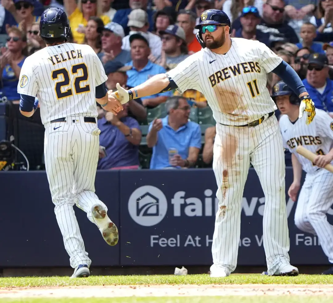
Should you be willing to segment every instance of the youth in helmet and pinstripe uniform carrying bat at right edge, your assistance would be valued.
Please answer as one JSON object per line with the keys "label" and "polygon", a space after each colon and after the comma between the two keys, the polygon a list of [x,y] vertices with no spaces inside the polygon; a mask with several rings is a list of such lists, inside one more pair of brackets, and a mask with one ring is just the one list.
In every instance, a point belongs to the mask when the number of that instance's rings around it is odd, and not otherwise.
{"label": "youth in helmet and pinstripe uniform carrying bat at right edge", "polygon": [[[295,224],[300,230],[318,236],[321,248],[333,263],[333,226],[326,217],[333,204],[333,174],[323,169],[333,161],[333,119],[317,109],[313,123],[304,125],[306,117],[298,118],[299,99],[282,81],[273,87],[272,99],[282,114],[279,124],[284,147],[292,153],[294,180],[288,195],[293,201],[300,188],[302,169],[306,172],[297,200]],[[296,152],[298,145],[317,154],[313,163]],[[333,267],[323,274],[333,275]]]}

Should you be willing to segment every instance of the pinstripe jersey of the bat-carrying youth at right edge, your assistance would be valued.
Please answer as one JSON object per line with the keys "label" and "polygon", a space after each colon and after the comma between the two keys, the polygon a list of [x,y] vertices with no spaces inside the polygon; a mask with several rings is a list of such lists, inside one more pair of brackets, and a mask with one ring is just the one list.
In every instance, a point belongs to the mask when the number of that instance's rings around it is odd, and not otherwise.
{"label": "pinstripe jersey of the bat-carrying youth at right edge", "polygon": [[[316,109],[316,116],[312,123],[305,124],[306,113],[301,119],[292,123],[287,115],[282,115],[279,120],[283,147],[293,153],[303,170],[314,173],[318,166],[296,152],[296,147],[302,145],[315,154],[326,155],[333,148],[333,119],[323,110]],[[333,162],[333,161],[332,161]]]}

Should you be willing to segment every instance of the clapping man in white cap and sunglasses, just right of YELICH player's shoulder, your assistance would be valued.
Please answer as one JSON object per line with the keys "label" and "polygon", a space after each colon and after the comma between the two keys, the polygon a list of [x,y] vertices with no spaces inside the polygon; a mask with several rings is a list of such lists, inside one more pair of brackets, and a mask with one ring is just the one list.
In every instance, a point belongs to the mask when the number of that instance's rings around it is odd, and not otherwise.
{"label": "clapping man in white cap and sunglasses, just right of YELICH player's shoulder", "polygon": [[105,64],[108,61],[119,61],[123,64],[131,61],[131,53],[122,49],[124,38],[123,27],[115,22],[108,23],[102,31],[102,51],[98,57]]}

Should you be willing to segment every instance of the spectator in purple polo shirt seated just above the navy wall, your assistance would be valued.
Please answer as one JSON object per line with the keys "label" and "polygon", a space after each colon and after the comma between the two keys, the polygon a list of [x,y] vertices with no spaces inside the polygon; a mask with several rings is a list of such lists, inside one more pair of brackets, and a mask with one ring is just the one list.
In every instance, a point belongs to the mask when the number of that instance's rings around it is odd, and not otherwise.
{"label": "spectator in purple polo shirt seated just above the navy wall", "polygon": [[141,129],[137,120],[128,117],[128,103],[116,115],[106,112],[98,120],[101,130],[100,145],[106,148],[106,156],[98,161],[97,169],[138,169]]}

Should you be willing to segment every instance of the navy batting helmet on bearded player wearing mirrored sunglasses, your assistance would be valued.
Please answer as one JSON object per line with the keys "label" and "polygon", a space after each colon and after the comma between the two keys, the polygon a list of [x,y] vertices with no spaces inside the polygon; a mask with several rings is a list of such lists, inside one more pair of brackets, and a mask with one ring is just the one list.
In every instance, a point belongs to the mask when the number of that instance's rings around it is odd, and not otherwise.
{"label": "navy batting helmet on bearded player wearing mirrored sunglasses", "polygon": [[199,31],[196,33],[196,38],[198,39],[200,45],[204,48],[205,43],[202,40],[202,32],[201,32],[201,27],[203,25],[228,25],[229,26],[229,33],[231,33],[230,29],[230,19],[228,15],[218,9],[207,9],[205,10],[199,18],[199,23],[195,25],[194,28],[198,29]]}

